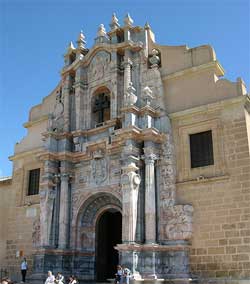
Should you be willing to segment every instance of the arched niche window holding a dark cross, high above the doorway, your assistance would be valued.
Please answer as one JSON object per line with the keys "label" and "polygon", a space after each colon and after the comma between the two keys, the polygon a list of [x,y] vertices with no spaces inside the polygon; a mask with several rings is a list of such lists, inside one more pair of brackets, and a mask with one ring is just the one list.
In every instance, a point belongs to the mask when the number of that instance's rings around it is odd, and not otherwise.
{"label": "arched niche window holding a dark cross, high above the doorway", "polygon": [[92,117],[94,127],[99,127],[104,124],[105,121],[110,120],[110,94],[109,91],[98,92],[93,97],[92,104]]}

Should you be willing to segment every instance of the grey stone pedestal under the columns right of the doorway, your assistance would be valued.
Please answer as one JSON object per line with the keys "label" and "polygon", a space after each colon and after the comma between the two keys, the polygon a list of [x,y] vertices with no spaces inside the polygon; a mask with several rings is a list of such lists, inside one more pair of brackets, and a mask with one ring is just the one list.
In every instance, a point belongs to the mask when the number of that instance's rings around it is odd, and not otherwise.
{"label": "grey stone pedestal under the columns right of the doorway", "polygon": [[[131,267],[134,283],[191,283],[189,273],[189,244],[175,241],[166,245],[117,245],[120,263]],[[171,282],[172,281],[172,282]]]}

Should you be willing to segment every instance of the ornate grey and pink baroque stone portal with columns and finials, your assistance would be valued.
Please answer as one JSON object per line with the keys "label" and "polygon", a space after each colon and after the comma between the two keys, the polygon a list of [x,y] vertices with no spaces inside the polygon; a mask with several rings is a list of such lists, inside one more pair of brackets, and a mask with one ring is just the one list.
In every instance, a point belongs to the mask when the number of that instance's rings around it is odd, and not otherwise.
{"label": "ornate grey and pink baroque stone portal with columns and finials", "polygon": [[90,50],[81,33],[65,54],[39,155],[33,281],[49,269],[105,281],[122,263],[135,281],[189,282],[193,208],[176,202],[161,55],[150,27],[132,24],[113,17]]}

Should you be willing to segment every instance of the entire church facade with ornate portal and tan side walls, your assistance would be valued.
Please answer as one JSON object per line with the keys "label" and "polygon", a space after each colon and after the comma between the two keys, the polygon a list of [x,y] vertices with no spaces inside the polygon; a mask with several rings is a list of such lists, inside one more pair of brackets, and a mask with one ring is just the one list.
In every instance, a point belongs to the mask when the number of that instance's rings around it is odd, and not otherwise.
{"label": "entire church facade with ornate portal and tan side walls", "polygon": [[[106,281],[250,280],[250,99],[209,45],[162,46],[129,15],[80,33],[0,181],[0,264]],[[233,282],[235,281],[235,282]],[[231,283],[227,282],[227,283]]]}

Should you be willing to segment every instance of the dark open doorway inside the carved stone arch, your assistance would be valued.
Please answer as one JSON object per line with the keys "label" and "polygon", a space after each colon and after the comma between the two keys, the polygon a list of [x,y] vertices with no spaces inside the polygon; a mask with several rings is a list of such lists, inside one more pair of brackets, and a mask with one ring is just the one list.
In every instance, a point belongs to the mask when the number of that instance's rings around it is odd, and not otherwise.
{"label": "dark open doorway inside the carved stone arch", "polygon": [[102,214],[96,226],[96,280],[114,278],[119,261],[114,246],[122,243],[122,215],[117,210]]}

